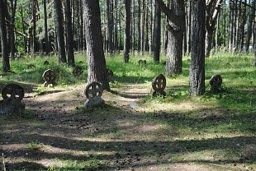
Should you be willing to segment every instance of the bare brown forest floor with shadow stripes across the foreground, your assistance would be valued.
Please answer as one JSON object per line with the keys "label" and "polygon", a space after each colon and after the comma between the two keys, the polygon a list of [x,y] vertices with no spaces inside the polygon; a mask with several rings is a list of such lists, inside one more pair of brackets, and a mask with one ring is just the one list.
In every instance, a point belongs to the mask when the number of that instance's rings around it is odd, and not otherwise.
{"label": "bare brown forest floor with shadow stripes across the foreground", "polygon": [[26,93],[24,115],[0,118],[0,169],[256,170],[254,133],[220,128],[255,114],[191,100],[145,103],[150,89],[112,88],[97,109],[83,108],[84,85]]}

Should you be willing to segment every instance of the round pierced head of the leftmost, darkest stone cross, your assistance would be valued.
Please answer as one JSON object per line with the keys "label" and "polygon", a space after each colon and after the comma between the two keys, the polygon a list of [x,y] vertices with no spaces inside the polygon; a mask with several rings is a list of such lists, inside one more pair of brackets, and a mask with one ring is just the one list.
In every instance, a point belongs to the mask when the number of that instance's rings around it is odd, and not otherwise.
{"label": "round pierced head of the leftmost, darkest stone cross", "polygon": [[23,99],[24,89],[20,85],[8,84],[2,89],[2,99]]}

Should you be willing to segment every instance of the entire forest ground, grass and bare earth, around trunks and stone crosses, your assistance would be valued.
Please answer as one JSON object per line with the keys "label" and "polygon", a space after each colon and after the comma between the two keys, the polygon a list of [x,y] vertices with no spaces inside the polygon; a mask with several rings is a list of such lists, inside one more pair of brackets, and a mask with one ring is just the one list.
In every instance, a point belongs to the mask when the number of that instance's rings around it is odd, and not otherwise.
{"label": "entire forest ground, grass and bare earth, around trunks and stone crosses", "polygon": [[[77,58],[83,59],[82,55]],[[147,64],[140,65],[140,58]],[[252,56],[218,54],[207,58],[207,93],[201,97],[188,96],[189,59],[184,58],[183,74],[167,78],[165,98],[148,95],[150,81],[164,73],[164,65],[154,64],[150,57],[140,58],[123,64],[121,56],[107,57],[115,83],[111,92],[104,92],[106,104],[97,109],[83,108],[86,72],[79,77],[65,76],[72,68],[57,66],[55,58],[47,58],[50,66],[59,68],[60,76],[57,86],[43,88],[41,77],[37,77],[48,67],[38,64],[39,70],[28,72],[19,61],[12,61],[16,74],[2,76],[0,85],[2,88],[15,81],[25,87],[22,101],[26,112],[0,118],[0,168],[256,169],[256,73],[250,64]],[[27,62],[46,59],[35,60]],[[223,91],[217,95],[208,92],[213,74],[223,77]],[[132,103],[137,105],[131,108]]]}

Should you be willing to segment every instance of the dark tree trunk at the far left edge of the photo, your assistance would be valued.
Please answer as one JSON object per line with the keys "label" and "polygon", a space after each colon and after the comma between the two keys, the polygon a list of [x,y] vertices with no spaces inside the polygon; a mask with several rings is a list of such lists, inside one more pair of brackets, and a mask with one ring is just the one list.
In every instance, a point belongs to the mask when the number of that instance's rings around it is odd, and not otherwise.
{"label": "dark tree trunk at the far left edge of the photo", "polygon": [[7,50],[7,27],[5,23],[5,2],[0,1],[0,38],[2,45],[2,72],[10,71],[9,54]]}

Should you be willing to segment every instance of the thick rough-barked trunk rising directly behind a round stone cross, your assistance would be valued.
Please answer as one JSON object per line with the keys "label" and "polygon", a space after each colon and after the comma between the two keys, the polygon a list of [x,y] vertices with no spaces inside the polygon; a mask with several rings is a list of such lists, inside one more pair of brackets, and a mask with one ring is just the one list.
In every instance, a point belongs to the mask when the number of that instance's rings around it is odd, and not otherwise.
{"label": "thick rough-barked trunk rising directly behind a round stone cross", "polygon": [[88,53],[88,83],[97,81],[102,84],[103,89],[110,90],[103,52],[99,2],[83,0],[83,10]]}

